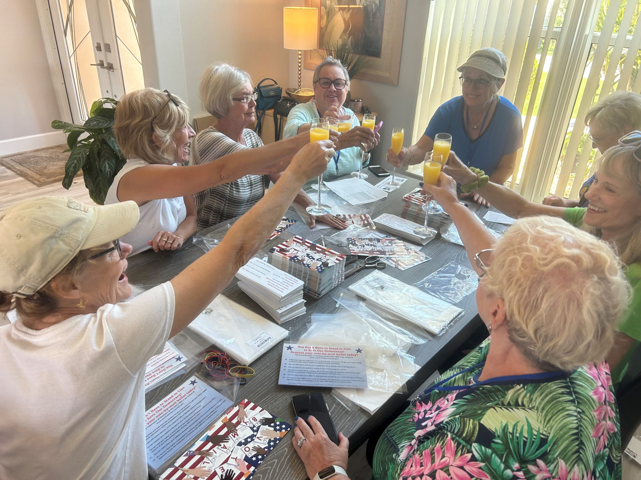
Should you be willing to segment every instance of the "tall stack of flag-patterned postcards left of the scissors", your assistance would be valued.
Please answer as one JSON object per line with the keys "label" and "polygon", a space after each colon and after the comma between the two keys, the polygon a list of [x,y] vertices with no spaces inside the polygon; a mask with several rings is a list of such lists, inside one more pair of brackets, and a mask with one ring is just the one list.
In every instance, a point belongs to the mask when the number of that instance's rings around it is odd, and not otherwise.
{"label": "tall stack of flag-patterned postcards left of the scissors", "polygon": [[296,236],[267,254],[269,263],[303,280],[303,292],[320,298],[345,279],[345,255]]}

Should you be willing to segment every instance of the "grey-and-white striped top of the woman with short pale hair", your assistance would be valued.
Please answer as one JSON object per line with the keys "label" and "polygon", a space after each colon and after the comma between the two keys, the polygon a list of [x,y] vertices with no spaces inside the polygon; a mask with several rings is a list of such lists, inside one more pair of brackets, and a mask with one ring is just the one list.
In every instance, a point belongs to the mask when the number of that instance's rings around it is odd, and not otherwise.
{"label": "grey-and-white striped top of the woman with short pale hair", "polygon": [[[193,140],[189,164],[209,163],[245,148],[263,146],[262,140],[253,131],[244,129],[242,134],[247,146],[231,140],[214,127],[199,132]],[[245,175],[233,182],[196,193],[194,200],[198,213],[198,229],[211,227],[221,221],[245,214],[263,198],[268,182],[267,175]]]}

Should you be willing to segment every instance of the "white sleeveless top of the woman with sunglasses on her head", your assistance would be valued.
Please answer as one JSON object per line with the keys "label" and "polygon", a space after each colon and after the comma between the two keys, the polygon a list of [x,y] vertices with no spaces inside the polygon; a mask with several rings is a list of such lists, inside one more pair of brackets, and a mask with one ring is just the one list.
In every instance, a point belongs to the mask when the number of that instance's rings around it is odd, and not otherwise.
{"label": "white sleeveless top of the woman with sunglasses on her head", "polygon": [[[110,186],[107,191],[107,195],[104,198],[104,204],[110,205],[119,203],[120,200],[118,200],[118,196],[116,194],[118,191],[118,184],[120,183],[122,176],[134,168],[146,165],[149,165],[149,162],[142,159],[129,159],[113,179],[112,186]],[[153,239],[158,232],[175,232],[178,225],[183,223],[185,217],[187,217],[187,208],[185,207],[183,197],[177,196],[175,198],[151,200],[151,202],[147,202],[140,207],[140,220],[138,220],[136,228],[122,237],[121,240],[124,243],[129,243],[133,246],[131,255],[144,252],[151,248],[147,242]]]}

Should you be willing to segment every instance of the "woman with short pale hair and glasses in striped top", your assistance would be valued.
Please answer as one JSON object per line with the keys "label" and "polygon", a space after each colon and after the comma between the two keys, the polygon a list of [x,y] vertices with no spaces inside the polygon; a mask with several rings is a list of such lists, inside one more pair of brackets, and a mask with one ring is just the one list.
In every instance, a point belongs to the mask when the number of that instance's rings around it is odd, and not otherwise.
{"label": "woman with short pale hair and glasses in striped top", "polygon": [[[309,141],[309,134],[301,133],[263,146],[260,137],[246,128],[256,120],[256,93],[253,93],[251,77],[241,68],[224,62],[210,65],[201,76],[199,90],[204,109],[215,116],[216,123],[196,135],[190,165],[217,164],[228,155],[287,145],[303,135]],[[256,167],[246,175],[196,193],[198,228],[210,227],[244,214],[263,198],[269,182],[278,181],[280,172],[279,164],[265,167],[256,163]],[[301,189],[294,203],[304,208],[316,202]],[[316,220],[335,228],[346,226],[342,219],[328,214],[310,215],[310,227],[315,227]]]}

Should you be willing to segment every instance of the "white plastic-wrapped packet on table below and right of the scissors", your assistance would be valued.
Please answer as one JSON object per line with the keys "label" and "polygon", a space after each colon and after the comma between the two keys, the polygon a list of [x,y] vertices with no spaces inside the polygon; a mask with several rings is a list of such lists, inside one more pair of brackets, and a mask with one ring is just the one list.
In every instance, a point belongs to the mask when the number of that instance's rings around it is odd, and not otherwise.
{"label": "white plastic-wrapped packet on table below and right of the scissors", "polygon": [[445,332],[454,319],[463,314],[462,309],[381,271],[373,271],[347,289],[393,317],[418,324],[434,335]]}

